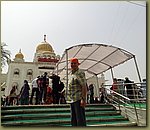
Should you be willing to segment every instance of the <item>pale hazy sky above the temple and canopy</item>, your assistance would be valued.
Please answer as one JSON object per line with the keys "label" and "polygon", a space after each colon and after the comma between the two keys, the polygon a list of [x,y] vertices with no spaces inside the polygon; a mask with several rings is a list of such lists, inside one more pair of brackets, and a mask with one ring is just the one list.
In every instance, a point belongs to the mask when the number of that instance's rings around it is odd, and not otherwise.
{"label": "pale hazy sky above the temple and canopy", "polygon": [[[3,1],[1,41],[11,59],[22,50],[33,61],[43,35],[60,56],[80,43],[103,43],[136,56],[141,78],[146,78],[146,2],[144,1]],[[7,67],[3,72],[7,72]],[[110,79],[111,73],[105,73]],[[134,61],[114,69],[114,76],[137,82]]]}

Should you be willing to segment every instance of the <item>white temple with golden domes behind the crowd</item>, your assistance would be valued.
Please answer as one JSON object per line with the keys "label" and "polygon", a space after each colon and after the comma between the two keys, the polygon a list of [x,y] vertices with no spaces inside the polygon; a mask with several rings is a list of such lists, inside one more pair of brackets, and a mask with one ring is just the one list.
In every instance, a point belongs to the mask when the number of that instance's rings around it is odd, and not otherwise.
{"label": "white temple with golden domes behind the crowd", "polygon": [[55,54],[52,46],[46,41],[46,35],[44,35],[44,41],[36,47],[33,62],[26,62],[20,49],[14,60],[9,63],[5,96],[9,95],[12,86],[16,86],[19,93],[24,80],[30,84],[34,78],[44,72],[50,75],[59,59],[60,56]]}

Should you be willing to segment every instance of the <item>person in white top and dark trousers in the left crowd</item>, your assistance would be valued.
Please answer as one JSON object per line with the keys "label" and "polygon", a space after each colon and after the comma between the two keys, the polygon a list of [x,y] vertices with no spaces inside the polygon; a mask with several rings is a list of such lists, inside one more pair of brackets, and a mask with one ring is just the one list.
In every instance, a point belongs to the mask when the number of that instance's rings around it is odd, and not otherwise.
{"label": "person in white top and dark trousers in the left crowd", "polygon": [[32,81],[32,94],[31,94],[31,98],[30,98],[30,104],[33,104],[33,96],[34,94],[36,94],[36,101],[35,101],[35,105],[39,104],[39,87],[38,87],[38,79],[40,78],[40,76],[36,77],[33,81]]}

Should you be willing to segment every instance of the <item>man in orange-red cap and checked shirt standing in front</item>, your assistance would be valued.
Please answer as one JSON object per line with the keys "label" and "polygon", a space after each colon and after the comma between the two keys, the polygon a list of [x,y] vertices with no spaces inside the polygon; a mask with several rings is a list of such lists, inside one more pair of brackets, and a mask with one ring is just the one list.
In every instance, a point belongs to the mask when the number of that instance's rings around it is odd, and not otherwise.
{"label": "man in orange-red cap and checked shirt standing in front", "polygon": [[86,106],[86,78],[85,73],[78,66],[77,58],[72,58],[71,78],[67,88],[67,102],[71,104],[71,124],[72,126],[86,126],[85,106]]}

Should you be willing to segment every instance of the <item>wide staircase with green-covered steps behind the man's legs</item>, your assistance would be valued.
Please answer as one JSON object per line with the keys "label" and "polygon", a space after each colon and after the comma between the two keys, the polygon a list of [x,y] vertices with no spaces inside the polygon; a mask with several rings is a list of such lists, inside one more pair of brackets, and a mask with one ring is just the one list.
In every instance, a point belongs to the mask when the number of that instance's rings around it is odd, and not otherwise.
{"label": "wide staircase with green-covered steps behind the man's legs", "polygon": [[[109,104],[86,106],[87,126],[136,126]],[[1,126],[57,126],[70,125],[70,105],[29,105],[1,107]]]}

